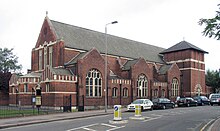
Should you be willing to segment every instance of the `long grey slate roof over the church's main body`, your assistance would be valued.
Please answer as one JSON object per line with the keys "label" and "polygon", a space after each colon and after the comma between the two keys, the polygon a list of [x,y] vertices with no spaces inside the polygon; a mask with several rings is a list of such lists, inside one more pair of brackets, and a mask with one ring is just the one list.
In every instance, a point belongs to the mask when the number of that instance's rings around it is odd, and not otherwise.
{"label": "long grey slate roof over the church's main body", "polygon": [[[65,46],[69,48],[89,51],[96,48],[100,53],[105,53],[105,33],[64,24],[51,20],[52,29],[54,29],[57,39],[63,39]],[[164,48],[107,35],[108,54],[132,59],[139,57],[145,60],[164,63],[161,54]]]}

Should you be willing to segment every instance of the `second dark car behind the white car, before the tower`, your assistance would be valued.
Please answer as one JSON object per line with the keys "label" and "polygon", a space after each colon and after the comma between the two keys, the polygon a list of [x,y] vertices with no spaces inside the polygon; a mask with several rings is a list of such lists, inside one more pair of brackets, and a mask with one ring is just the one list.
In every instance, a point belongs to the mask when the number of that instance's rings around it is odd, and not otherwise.
{"label": "second dark car behind the white car, before the tower", "polygon": [[177,100],[177,106],[186,106],[186,107],[190,107],[190,106],[197,106],[197,101],[194,100],[191,97],[184,97],[184,98],[179,98],[179,100]]}

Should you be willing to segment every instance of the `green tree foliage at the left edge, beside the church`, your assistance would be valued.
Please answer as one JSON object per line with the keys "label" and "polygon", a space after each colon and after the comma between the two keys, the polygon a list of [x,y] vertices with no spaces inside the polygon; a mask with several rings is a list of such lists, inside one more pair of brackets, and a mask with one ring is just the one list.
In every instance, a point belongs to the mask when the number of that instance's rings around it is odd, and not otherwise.
{"label": "green tree foliage at the left edge, beside the church", "polygon": [[18,65],[18,57],[13,54],[13,48],[0,48],[0,72],[15,72],[22,68],[21,65]]}

